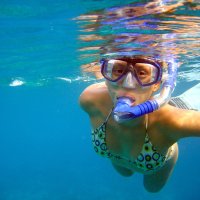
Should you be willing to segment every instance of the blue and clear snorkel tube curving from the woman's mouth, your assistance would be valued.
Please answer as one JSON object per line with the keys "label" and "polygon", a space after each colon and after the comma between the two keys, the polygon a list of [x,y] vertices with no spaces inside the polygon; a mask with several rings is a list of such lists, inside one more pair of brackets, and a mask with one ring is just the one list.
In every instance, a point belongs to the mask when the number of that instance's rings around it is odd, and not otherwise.
{"label": "blue and clear snorkel tube curving from the woman's mouth", "polygon": [[131,98],[119,97],[113,110],[114,119],[121,123],[151,113],[168,103],[176,86],[177,67],[178,64],[174,59],[168,61],[167,77],[162,84],[160,94],[153,99],[136,106],[131,106],[133,102]]}

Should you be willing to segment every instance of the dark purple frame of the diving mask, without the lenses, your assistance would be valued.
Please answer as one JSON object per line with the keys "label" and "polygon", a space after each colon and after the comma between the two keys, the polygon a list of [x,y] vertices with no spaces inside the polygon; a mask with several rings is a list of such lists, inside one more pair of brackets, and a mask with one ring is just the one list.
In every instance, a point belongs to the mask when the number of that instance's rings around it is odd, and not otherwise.
{"label": "dark purple frame of the diving mask, without the lenses", "polygon": [[126,74],[127,72],[131,71],[129,70],[129,65],[135,65],[136,63],[146,63],[146,64],[151,64],[153,65],[154,67],[156,67],[156,69],[158,70],[157,74],[156,74],[156,78],[153,82],[151,83],[146,83],[146,84],[143,84],[141,83],[141,81],[138,79],[137,75],[135,75],[135,78],[137,80],[137,82],[141,85],[141,86],[150,86],[150,85],[153,85],[157,82],[159,82],[162,78],[162,67],[160,66],[160,64],[158,64],[156,61],[154,60],[151,60],[151,59],[147,59],[147,58],[116,58],[116,59],[113,59],[113,60],[120,60],[120,61],[125,61],[128,63],[126,69],[124,70],[123,74],[121,76],[119,76],[117,79],[115,80],[112,80],[110,79],[109,77],[106,76],[106,74],[104,73],[105,71],[105,68],[106,68],[106,65],[107,63],[109,62],[108,59],[101,59],[100,63],[101,63],[101,74],[104,76],[105,79],[107,79],[108,81],[111,81],[111,82],[117,82],[119,81],[120,79],[122,79]]}

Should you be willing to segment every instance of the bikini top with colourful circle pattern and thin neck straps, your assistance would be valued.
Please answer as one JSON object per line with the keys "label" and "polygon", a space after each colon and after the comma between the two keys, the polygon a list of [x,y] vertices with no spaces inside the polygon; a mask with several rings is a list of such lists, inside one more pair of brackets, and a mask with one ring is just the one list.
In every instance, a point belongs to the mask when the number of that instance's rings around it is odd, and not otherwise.
{"label": "bikini top with colourful circle pattern and thin neck straps", "polygon": [[[126,160],[127,162],[133,164],[135,167],[141,169],[144,172],[157,170],[158,168],[162,167],[170,157],[171,151],[168,151],[166,156],[157,152],[156,148],[152,145],[151,141],[149,140],[147,131],[142,151],[135,160],[129,160],[120,155],[113,154],[109,151],[106,145],[106,124],[111,113],[112,111],[110,112],[105,122],[100,127],[92,131],[92,143],[96,153],[107,158],[112,157],[117,160],[119,159]],[[147,125],[146,125],[146,130],[147,130]]]}

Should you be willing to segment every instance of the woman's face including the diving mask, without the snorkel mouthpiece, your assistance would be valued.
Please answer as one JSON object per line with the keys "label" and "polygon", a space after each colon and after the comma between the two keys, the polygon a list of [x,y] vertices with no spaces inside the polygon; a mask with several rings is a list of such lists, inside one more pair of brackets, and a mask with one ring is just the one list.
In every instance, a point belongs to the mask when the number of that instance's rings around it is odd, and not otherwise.
{"label": "woman's face including the diving mask, without the snorkel mouthpiece", "polygon": [[153,60],[124,58],[103,60],[101,72],[114,104],[118,97],[126,96],[138,105],[159,89],[162,70]]}

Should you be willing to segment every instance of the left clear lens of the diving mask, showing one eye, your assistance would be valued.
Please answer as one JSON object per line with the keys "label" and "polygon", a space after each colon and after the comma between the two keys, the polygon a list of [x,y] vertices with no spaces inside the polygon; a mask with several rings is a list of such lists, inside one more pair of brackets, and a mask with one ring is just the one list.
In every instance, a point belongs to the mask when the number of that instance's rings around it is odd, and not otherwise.
{"label": "left clear lens of the diving mask, showing one eye", "polygon": [[119,80],[127,68],[127,62],[122,60],[109,60],[105,63],[103,68],[103,75],[105,78],[116,81]]}

